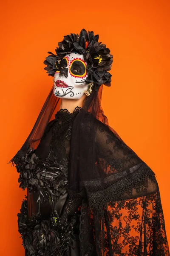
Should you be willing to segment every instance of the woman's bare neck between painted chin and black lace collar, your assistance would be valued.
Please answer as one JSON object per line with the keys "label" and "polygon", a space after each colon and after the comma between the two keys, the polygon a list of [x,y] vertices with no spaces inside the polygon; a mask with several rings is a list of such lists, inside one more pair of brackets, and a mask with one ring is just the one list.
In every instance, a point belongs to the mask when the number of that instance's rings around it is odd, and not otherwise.
{"label": "woman's bare neck between painted chin and black lace collar", "polygon": [[70,113],[74,111],[74,109],[78,106],[82,108],[85,99],[87,98],[86,94],[83,94],[83,96],[80,99],[61,99],[60,109],[66,108]]}

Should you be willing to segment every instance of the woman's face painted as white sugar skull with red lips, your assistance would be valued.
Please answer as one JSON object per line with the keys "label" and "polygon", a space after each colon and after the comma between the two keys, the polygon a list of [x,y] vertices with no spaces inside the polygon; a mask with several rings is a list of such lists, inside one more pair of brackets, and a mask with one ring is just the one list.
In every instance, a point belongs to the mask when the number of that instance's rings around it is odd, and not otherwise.
{"label": "woman's face painted as white sugar skull with red lips", "polygon": [[54,75],[54,95],[65,99],[80,99],[88,89],[85,82],[87,76],[83,55],[65,55]]}

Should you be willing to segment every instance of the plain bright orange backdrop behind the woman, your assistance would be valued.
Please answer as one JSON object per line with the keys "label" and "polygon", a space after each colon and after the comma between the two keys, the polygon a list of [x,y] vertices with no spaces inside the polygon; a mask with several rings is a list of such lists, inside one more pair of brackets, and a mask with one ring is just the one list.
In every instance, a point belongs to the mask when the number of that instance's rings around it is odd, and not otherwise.
{"label": "plain bright orange backdrop behind the woman", "polygon": [[[110,125],[156,173],[170,243],[170,1],[3,1],[1,26],[0,255],[24,256],[17,212],[26,191],[7,164],[28,136],[53,84],[43,70],[66,34],[94,30],[113,54],[102,107]],[[3,165],[2,165],[3,164]]]}

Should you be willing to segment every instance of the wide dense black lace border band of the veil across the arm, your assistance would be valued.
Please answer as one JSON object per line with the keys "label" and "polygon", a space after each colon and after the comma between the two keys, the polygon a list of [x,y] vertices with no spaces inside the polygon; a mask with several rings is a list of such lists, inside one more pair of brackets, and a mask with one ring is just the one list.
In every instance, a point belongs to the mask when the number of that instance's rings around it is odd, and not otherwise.
{"label": "wide dense black lace border band of the veil across the arm", "polygon": [[[153,182],[151,191],[147,190],[148,178]],[[113,183],[106,189],[97,192],[90,192],[88,187],[86,189],[90,209],[95,208],[98,212],[102,212],[109,202],[152,194],[159,190],[155,173],[144,162],[136,172]]]}

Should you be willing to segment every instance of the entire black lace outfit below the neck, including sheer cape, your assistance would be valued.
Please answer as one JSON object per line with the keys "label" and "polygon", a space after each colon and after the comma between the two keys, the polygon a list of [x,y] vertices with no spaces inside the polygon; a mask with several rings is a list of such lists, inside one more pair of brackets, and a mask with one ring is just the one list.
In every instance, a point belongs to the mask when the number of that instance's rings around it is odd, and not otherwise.
{"label": "entire black lace outfit below the neck, including sheer cape", "polygon": [[154,172],[116,132],[96,120],[92,129],[80,114],[58,111],[16,166],[28,189],[18,213],[26,256],[169,256]]}

